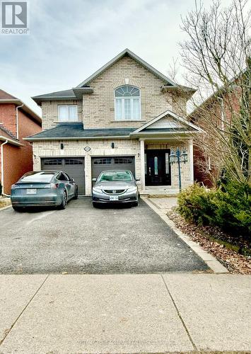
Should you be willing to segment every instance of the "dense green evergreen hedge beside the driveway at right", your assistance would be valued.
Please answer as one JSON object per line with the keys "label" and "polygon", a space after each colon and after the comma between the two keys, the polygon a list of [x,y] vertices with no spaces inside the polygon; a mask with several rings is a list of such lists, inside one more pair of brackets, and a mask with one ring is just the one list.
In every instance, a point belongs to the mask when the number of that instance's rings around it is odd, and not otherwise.
{"label": "dense green evergreen hedge beside the driveway at right", "polygon": [[228,182],[224,190],[194,184],[178,196],[178,210],[189,222],[218,226],[236,236],[251,235],[251,188]]}

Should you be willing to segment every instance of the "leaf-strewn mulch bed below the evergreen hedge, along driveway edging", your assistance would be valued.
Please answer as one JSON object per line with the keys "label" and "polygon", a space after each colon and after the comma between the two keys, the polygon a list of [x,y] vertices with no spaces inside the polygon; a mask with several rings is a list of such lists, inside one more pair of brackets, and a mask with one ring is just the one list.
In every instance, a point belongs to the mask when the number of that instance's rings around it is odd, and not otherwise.
{"label": "leaf-strewn mulch bed below the evergreen hedge, along driveway edging", "polygon": [[[176,210],[168,212],[168,217],[173,220],[184,234],[191,237],[192,241],[197,242],[202,249],[211,253],[218,259],[230,273],[251,274],[251,256],[243,256],[233,249],[219,242],[232,244],[238,248],[250,249],[250,243],[242,238],[237,239],[229,234],[222,232],[218,227],[198,227],[196,224],[190,224],[181,217]],[[219,240],[219,242],[210,238]]]}

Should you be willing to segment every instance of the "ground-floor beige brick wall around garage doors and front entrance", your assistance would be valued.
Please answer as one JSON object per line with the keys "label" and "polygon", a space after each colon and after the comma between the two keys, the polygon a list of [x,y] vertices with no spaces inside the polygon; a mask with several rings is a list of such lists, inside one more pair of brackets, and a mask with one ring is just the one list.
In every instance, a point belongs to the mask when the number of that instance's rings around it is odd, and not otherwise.
{"label": "ground-floor beige brick wall around garage doors and front entrance", "polygon": [[[137,139],[112,139],[112,140],[65,140],[64,149],[60,149],[62,141],[53,142],[33,142],[33,163],[34,170],[41,169],[41,158],[43,157],[64,157],[64,156],[83,156],[85,158],[85,183],[86,195],[91,195],[91,157],[94,156],[134,156],[135,175],[141,178],[141,154],[140,144]],[[111,143],[115,143],[112,149]],[[84,147],[91,147],[90,152],[85,152]],[[190,170],[189,142],[147,142],[146,149],[176,149],[185,147],[188,153],[188,161],[181,165],[182,187],[192,183]],[[143,156],[144,159],[144,156]],[[141,190],[141,182],[139,182]],[[178,169],[177,164],[171,166],[171,185],[166,188],[176,193],[178,190]]]}

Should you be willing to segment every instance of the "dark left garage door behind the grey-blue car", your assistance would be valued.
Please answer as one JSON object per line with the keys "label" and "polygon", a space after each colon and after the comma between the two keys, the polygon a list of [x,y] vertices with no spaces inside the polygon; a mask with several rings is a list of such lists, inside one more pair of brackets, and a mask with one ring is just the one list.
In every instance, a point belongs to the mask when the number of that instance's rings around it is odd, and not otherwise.
{"label": "dark left garage door behind the grey-blue car", "polygon": [[47,158],[42,159],[42,169],[52,170],[52,171],[64,171],[78,185],[78,194],[85,195],[85,170],[84,170],[84,159],[83,157],[67,157],[61,158]]}

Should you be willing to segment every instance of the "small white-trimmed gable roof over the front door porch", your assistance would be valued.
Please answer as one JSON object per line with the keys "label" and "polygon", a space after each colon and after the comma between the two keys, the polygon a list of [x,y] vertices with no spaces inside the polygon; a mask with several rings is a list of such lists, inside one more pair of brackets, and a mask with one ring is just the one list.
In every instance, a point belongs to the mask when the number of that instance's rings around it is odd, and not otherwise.
{"label": "small white-trimmed gable roof over the front door porch", "polygon": [[[189,122],[185,118],[180,117],[180,115],[177,115],[176,113],[173,113],[171,110],[165,110],[165,112],[161,113],[158,115],[156,118],[153,118],[149,122],[146,122],[146,124],[141,125],[138,129],[136,129],[133,134],[137,134],[140,132],[143,132],[143,130],[146,130],[146,128],[151,127],[154,123],[158,122],[158,120],[164,118],[165,116],[169,115],[171,118],[176,120],[178,123],[182,125],[182,127],[177,127],[180,131],[184,130],[184,127],[187,127],[187,130],[189,131],[194,131],[194,132],[202,132],[203,130],[198,127],[197,125],[194,125],[193,123]],[[172,127],[170,129],[177,129],[175,127]]]}

